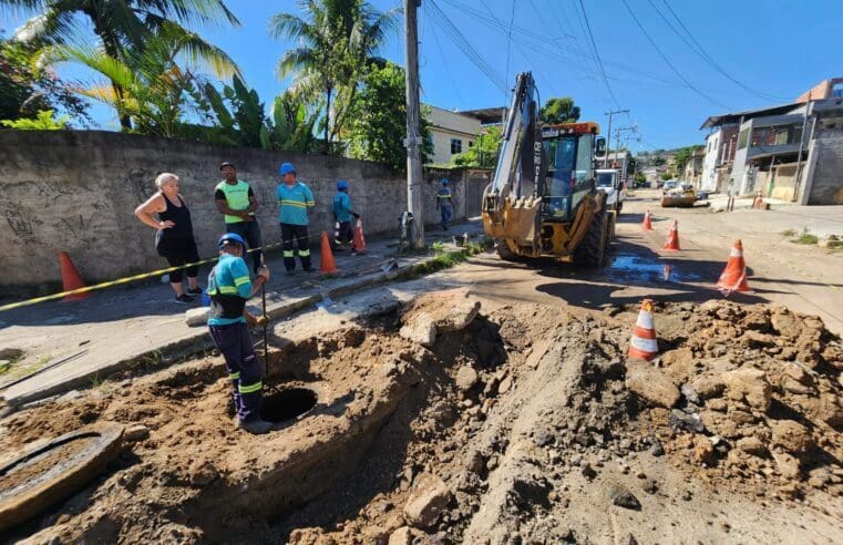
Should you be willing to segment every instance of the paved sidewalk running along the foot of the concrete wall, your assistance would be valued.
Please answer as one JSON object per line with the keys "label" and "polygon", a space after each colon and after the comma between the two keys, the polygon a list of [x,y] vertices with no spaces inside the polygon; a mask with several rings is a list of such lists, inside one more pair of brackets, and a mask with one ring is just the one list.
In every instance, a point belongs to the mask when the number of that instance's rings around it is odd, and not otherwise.
{"label": "paved sidewalk running along the foot of the concrete wall", "polygon": [[[426,243],[451,244],[452,235],[482,236],[479,220],[459,224],[449,232],[428,230]],[[426,256],[397,257],[394,239],[367,240],[368,253],[352,256],[337,253],[336,275],[285,275],[280,255],[269,256],[273,277],[267,285],[267,313],[271,319],[291,315],[316,304],[336,300],[356,290],[389,281],[412,270]],[[313,254],[318,268],[320,255]],[[208,267],[199,270],[205,285]],[[135,362],[162,364],[212,347],[207,328],[189,327],[185,312],[198,307],[172,301],[168,284],[148,282],[127,288],[95,291],[82,301],[50,301],[0,312],[0,349],[18,348],[24,358],[0,374],[0,395],[20,405],[75,388],[85,388],[101,378]],[[260,307],[260,296],[250,301]],[[66,359],[66,361],[64,361]],[[59,362],[58,364],[55,364]],[[54,367],[49,367],[54,366]],[[34,372],[17,384],[12,381]]]}

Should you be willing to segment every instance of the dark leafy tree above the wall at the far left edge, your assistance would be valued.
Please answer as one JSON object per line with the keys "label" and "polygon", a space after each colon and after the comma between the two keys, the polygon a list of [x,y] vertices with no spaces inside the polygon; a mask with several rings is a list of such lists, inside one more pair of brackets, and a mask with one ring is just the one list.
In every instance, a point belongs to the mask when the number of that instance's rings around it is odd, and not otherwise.
{"label": "dark leafy tree above the wall at the far left edge", "polygon": [[39,112],[61,110],[82,125],[91,123],[88,104],[55,73],[32,68],[37,50],[0,39],[0,120],[35,119]]}

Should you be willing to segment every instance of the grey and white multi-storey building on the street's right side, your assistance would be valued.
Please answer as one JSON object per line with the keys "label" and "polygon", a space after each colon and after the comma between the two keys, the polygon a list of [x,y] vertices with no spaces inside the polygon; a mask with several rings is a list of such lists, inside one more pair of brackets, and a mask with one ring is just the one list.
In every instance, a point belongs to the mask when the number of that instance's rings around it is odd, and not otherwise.
{"label": "grey and white multi-storey building on the street's right side", "polygon": [[[839,82],[839,83],[835,83]],[[843,204],[843,79],[796,100],[709,117],[700,186],[800,204]],[[840,92],[839,92],[840,90]]]}

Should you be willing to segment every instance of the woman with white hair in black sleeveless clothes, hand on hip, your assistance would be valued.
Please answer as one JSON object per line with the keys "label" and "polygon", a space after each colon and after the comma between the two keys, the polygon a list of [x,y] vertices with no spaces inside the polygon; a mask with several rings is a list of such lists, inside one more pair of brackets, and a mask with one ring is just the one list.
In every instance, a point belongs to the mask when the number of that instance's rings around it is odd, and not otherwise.
{"label": "woman with white hair in black sleeveless clothes, hand on hip", "polygon": [[[135,216],[157,233],[155,249],[167,260],[171,267],[181,267],[199,260],[196,240],[193,238],[191,210],[178,193],[178,176],[165,172],[155,178],[157,192],[144,204],[135,208]],[[157,216],[157,218],[155,217]],[[182,286],[184,274],[187,274],[187,292]],[[196,276],[198,266],[174,270],[169,274],[169,285],[175,291],[175,302],[193,302],[193,295],[202,294]]]}

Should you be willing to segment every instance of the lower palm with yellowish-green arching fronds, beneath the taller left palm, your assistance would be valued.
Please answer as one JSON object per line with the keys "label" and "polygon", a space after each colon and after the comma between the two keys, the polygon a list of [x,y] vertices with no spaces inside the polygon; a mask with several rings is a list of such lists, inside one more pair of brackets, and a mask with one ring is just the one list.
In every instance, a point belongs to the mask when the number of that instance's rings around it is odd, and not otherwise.
{"label": "lower palm with yellowish-green arching fronds, beneath the taller left palm", "polygon": [[80,86],[75,92],[113,106],[137,132],[165,137],[178,135],[186,95],[195,93],[201,81],[197,71],[213,71],[223,78],[239,74],[224,51],[166,22],[147,37],[143,50],[128,51],[124,59],[111,56],[102,45],[51,45],[42,50],[39,64],[69,61],[84,64],[111,82]]}

